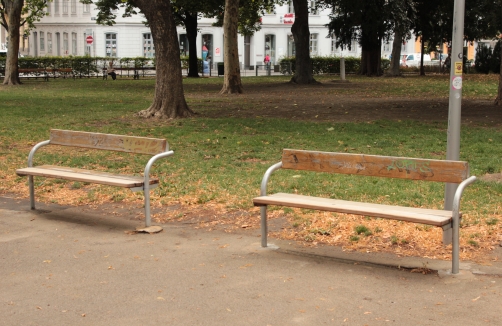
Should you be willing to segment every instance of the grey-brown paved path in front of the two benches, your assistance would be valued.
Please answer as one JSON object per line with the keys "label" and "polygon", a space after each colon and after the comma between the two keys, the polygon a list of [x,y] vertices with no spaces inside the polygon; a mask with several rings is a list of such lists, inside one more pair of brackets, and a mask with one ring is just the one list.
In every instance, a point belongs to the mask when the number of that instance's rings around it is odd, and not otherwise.
{"label": "grey-brown paved path in front of the two benches", "polygon": [[[0,197],[0,325],[500,325],[502,265],[303,248]],[[277,248],[278,247],[278,248]],[[409,269],[397,268],[396,266]],[[438,272],[412,273],[422,268]]]}

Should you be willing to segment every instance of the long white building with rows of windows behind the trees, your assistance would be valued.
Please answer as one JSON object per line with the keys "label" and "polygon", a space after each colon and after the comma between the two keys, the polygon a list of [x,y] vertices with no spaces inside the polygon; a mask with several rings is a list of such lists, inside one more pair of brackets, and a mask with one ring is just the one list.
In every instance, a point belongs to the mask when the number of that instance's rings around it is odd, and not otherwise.
{"label": "long white building with rows of windows behind the trees", "polygon": [[[311,1],[314,2],[314,1]],[[30,56],[91,55],[112,57],[154,56],[150,29],[145,27],[142,15],[123,18],[119,10],[114,26],[96,24],[97,11],[94,5],[78,0],[53,0],[47,8],[48,16],[36,24],[28,39],[21,46],[21,53]],[[354,41],[351,50],[336,48],[335,39],[328,36],[325,25],[329,22],[330,10],[310,14],[310,51],[318,56],[360,56],[360,47]],[[199,20],[197,54],[211,55],[212,62],[223,62],[223,29],[214,27],[213,19]],[[282,57],[293,56],[294,41],[291,26],[294,22],[292,1],[278,6],[262,17],[262,28],[253,36],[239,36],[239,57],[244,67],[261,65],[266,54],[273,64]],[[188,41],[183,27],[178,27],[179,45],[182,53],[188,53]],[[25,44],[26,43],[26,44]],[[406,47],[410,47],[407,49]],[[207,49],[207,53],[205,50]],[[204,50],[204,52],[203,52]],[[382,56],[388,57],[392,43],[382,46]],[[416,52],[413,42],[402,51]]]}

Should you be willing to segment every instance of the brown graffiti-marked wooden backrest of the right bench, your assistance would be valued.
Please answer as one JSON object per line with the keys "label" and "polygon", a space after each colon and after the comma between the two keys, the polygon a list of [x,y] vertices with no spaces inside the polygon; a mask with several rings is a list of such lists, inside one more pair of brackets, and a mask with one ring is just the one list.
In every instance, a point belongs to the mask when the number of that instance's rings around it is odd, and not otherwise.
{"label": "brown graffiti-marked wooden backrest of the right bench", "polygon": [[462,161],[295,149],[283,150],[282,168],[449,183],[469,177],[469,165]]}

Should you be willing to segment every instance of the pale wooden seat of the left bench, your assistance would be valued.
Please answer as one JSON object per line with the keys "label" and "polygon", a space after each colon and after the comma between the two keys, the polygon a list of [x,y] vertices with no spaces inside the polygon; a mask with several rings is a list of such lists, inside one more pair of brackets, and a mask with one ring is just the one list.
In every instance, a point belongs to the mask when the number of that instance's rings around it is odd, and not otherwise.
{"label": "pale wooden seat of the left bench", "polygon": [[[112,174],[101,171],[90,171],[53,165],[41,165],[31,168],[18,169],[16,170],[16,174],[19,176],[32,175],[46,178],[98,183],[124,188],[142,187],[144,183],[144,179],[141,176]],[[158,179],[150,179],[151,185],[157,183],[159,183]]]}

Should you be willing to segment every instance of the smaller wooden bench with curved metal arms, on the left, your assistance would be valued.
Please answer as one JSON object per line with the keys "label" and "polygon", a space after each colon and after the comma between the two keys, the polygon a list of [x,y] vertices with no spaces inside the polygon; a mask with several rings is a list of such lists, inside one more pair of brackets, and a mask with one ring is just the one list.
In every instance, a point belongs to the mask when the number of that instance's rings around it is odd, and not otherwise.
{"label": "smaller wooden bench with curved metal arms, on the left", "polygon": [[[119,175],[101,171],[91,171],[63,166],[33,166],[35,152],[42,146],[62,145],[88,149],[101,149],[134,154],[153,155],[146,164],[144,176]],[[144,191],[145,224],[150,226],[150,189],[158,186],[159,180],[150,178],[150,168],[159,158],[171,156],[169,144],[165,139],[111,135],[94,132],[51,129],[50,139],[35,145],[28,155],[28,167],[16,170],[19,176],[28,176],[31,209],[35,209],[35,190],[33,177],[58,178],[71,181],[90,182],[109,186]]]}

